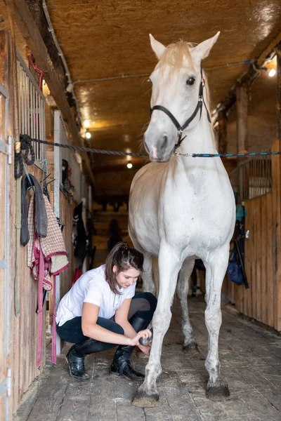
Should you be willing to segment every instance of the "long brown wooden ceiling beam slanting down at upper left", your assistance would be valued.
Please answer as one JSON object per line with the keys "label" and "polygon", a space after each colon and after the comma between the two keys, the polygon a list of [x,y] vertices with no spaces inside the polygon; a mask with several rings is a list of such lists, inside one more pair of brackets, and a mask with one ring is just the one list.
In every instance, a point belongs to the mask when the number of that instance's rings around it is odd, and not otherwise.
{"label": "long brown wooden ceiling beam slanting down at upper left", "polygon": [[[6,6],[9,6],[9,1],[4,0]],[[65,96],[65,90],[58,79],[58,75],[55,72],[53,67],[53,62],[48,54],[46,45],[42,39],[42,36],[37,28],[34,18],[30,13],[30,10],[25,2],[25,0],[14,0],[14,13],[15,13],[15,23],[18,25],[18,29],[27,42],[27,46],[30,48],[32,55],[37,60],[37,64],[44,72],[44,79],[48,85],[48,88],[55,100],[56,105],[63,114],[63,118],[67,125],[68,131],[70,132],[70,144],[84,146],[81,139],[77,124],[72,116],[70,106],[68,105],[67,98]],[[86,175],[88,175],[91,183],[94,183],[93,172],[91,170],[91,165],[89,157],[86,153],[82,153],[84,159]]]}

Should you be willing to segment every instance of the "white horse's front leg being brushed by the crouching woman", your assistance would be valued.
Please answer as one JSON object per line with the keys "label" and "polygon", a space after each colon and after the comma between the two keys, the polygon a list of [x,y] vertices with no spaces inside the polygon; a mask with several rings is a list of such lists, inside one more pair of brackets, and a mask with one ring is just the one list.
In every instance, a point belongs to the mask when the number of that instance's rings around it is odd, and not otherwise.
{"label": "white horse's front leg being brushed by the crouching woman", "polygon": [[157,405],[159,393],[156,387],[157,377],[161,373],[160,357],[164,335],[170,326],[171,304],[176,289],[178,271],[181,262],[178,261],[174,251],[168,246],[160,248],[159,252],[159,297],[157,308],[152,320],[153,340],[150,351],[150,359],[145,368],[145,380],[138,388],[138,392],[132,401],[133,406],[150,408]]}

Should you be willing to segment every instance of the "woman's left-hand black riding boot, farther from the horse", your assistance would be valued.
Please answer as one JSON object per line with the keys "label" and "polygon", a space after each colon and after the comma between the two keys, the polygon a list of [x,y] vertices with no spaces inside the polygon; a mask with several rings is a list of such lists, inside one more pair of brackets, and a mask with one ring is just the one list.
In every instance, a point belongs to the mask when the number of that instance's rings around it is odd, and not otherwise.
{"label": "woman's left-hand black riding boot, farther from the horse", "polygon": [[88,338],[79,344],[73,345],[66,355],[71,377],[79,380],[89,380],[89,374],[85,373],[85,356],[100,351],[103,351],[101,342],[91,338]]}

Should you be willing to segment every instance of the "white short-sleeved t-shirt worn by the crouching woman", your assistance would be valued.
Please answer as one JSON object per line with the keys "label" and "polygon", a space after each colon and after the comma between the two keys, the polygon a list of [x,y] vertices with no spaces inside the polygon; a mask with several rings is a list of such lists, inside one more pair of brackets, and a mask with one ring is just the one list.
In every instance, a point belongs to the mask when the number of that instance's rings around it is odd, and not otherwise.
{"label": "white short-sleeved t-shirt worn by the crouching woman", "polygon": [[105,265],[89,270],[74,283],[74,286],[60,300],[55,321],[62,326],[66,321],[82,315],[84,302],[91,302],[100,307],[99,317],[111,319],[121,307],[126,298],[133,298],[136,283],[128,288],[117,289],[121,293],[115,294],[105,280]]}

